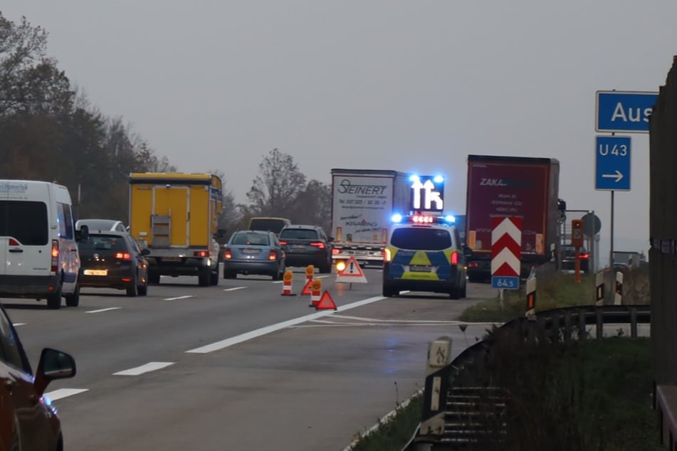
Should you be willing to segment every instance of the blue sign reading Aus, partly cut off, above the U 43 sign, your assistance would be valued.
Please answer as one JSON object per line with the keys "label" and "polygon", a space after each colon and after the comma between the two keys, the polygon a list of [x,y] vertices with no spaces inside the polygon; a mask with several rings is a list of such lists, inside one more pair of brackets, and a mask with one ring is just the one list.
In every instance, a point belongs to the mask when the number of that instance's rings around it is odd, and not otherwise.
{"label": "blue sign reading Aus, partly cut off, above the U 43 sign", "polygon": [[658,92],[597,91],[597,132],[649,133],[649,116]]}

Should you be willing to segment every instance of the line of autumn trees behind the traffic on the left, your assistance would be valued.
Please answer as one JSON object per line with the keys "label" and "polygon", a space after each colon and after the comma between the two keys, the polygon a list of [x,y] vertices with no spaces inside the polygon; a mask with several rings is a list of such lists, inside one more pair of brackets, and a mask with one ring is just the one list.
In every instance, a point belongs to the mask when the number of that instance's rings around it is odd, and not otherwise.
{"label": "line of autumn trees behind the traffic on the left", "polygon": [[[73,87],[46,53],[48,33],[26,17],[0,12],[0,178],[57,181],[68,187],[78,218],[127,222],[132,172],[180,172],[133,132]],[[226,185],[227,174],[218,169]],[[292,156],[272,149],[263,156],[247,193],[236,203],[224,188],[219,226],[245,228],[251,216],[280,216],[330,228],[330,186],[302,174]]]}

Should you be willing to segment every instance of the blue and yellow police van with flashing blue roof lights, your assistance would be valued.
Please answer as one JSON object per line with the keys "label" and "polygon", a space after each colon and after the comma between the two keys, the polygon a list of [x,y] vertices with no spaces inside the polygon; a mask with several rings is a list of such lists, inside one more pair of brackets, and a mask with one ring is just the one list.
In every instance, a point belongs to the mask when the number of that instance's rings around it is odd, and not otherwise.
{"label": "blue and yellow police van with flashing blue roof lights", "polygon": [[453,218],[395,215],[384,250],[383,295],[404,290],[466,297],[463,245]]}

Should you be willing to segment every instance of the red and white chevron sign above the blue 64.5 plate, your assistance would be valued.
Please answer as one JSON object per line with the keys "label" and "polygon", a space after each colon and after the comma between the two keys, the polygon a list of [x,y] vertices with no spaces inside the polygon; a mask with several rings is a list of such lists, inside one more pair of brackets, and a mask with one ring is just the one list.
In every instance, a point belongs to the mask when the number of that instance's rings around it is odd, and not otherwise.
{"label": "red and white chevron sign above the blue 64.5 plate", "polygon": [[491,275],[520,276],[522,218],[491,218]]}

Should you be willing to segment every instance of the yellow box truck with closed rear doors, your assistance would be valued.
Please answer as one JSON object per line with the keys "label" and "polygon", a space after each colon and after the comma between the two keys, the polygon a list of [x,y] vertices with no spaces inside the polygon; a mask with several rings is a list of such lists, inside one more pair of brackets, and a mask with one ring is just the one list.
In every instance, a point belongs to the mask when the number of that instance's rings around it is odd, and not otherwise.
{"label": "yellow box truck with closed rear doors", "polygon": [[221,179],[214,174],[130,174],[130,233],[148,248],[148,279],[196,275],[199,285],[219,283],[216,236],[223,209]]}

